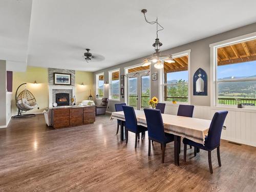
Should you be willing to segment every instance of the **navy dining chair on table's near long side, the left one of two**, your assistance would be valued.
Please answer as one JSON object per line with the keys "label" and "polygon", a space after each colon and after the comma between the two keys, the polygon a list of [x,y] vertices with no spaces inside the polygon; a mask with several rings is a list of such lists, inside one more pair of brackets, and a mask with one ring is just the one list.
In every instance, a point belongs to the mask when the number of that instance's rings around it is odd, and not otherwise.
{"label": "navy dining chair on table's near long side, the left one of two", "polygon": [[[147,128],[137,124],[137,118],[132,106],[122,106],[125,117],[125,136],[128,142],[128,131],[135,133],[135,148],[137,148],[138,135],[147,131]],[[142,138],[142,137],[141,137]]]}

